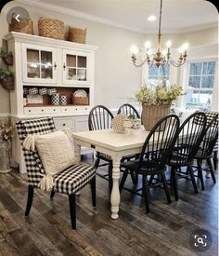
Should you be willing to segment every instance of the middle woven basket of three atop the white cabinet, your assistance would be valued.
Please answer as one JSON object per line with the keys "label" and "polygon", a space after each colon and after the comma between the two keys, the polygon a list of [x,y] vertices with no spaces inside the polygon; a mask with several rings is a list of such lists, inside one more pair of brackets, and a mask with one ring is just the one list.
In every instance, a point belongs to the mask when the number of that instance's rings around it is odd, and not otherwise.
{"label": "middle woven basket of three atop the white cabinet", "polygon": [[64,22],[61,20],[40,18],[38,20],[39,35],[54,39],[64,39]]}

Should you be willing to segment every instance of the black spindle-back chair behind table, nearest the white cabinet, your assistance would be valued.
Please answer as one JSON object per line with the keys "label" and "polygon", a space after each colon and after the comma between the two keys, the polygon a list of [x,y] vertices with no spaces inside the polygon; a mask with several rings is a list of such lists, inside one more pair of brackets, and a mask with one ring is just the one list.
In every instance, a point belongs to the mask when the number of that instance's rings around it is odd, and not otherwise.
{"label": "black spindle-back chair behind table, nearest the white cabinet", "polygon": [[[97,129],[107,129],[111,128],[111,121],[113,119],[113,115],[110,110],[103,106],[97,105],[91,109],[89,116],[88,116],[88,127],[89,130],[97,130]],[[97,175],[109,181],[109,191],[111,192],[112,188],[112,159],[110,155],[106,155],[100,152],[97,152],[97,159],[95,162],[95,167],[103,167],[108,166],[108,173],[102,174],[97,171]],[[103,163],[101,163],[101,160]]]}

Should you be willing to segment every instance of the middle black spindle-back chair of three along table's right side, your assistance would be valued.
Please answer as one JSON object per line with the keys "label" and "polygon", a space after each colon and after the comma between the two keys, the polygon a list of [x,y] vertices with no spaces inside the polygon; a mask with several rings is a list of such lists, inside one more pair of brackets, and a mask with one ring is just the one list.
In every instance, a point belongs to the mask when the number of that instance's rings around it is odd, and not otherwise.
{"label": "middle black spindle-back chair of three along table's right side", "polygon": [[[168,162],[171,168],[171,184],[174,184],[175,200],[178,200],[178,182],[180,178],[190,180],[195,193],[198,193],[197,183],[193,172],[193,162],[206,128],[206,115],[196,112],[189,115],[180,126],[173,154]],[[183,171],[182,168],[187,170]],[[190,176],[190,178],[189,178]]]}

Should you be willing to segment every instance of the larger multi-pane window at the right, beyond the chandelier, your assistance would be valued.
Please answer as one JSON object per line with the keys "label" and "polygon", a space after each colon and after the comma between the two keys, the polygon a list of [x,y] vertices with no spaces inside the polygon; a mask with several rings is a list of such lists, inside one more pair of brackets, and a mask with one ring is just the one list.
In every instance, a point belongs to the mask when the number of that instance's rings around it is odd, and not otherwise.
{"label": "larger multi-pane window at the right, beyond the chandelier", "polygon": [[209,110],[213,98],[215,61],[190,63],[187,83],[187,108]]}

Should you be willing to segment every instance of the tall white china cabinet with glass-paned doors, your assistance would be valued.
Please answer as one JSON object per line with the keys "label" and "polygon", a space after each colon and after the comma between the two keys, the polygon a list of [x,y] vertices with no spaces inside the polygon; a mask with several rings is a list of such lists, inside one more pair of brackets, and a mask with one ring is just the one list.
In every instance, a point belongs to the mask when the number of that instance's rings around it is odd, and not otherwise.
{"label": "tall white china cabinet with glass-paned doors", "polygon": [[[14,56],[10,67],[15,73],[15,89],[10,91],[14,121],[52,115],[58,129],[88,129],[88,114],[94,105],[97,47],[16,32],[5,38]],[[64,95],[64,103],[52,101],[49,91],[54,90],[58,96]],[[74,101],[75,91],[83,91],[87,101]],[[12,157],[22,166],[18,136],[14,138]]]}

